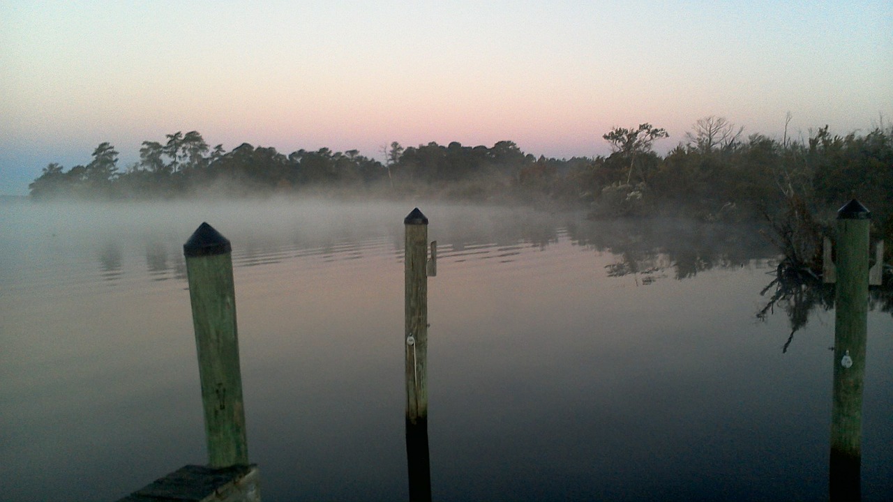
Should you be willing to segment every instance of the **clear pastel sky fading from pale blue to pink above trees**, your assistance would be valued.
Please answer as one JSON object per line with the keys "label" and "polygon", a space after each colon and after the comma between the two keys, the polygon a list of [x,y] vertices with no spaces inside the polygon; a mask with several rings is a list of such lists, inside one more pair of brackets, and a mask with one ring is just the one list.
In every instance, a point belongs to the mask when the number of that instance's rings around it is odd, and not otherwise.
{"label": "clear pastel sky fading from pale blue to pink above trees", "polygon": [[893,121],[893,2],[0,0],[0,194],[178,130],[560,158],[646,121],[663,153],[706,115],[780,138],[788,112],[796,138]]}

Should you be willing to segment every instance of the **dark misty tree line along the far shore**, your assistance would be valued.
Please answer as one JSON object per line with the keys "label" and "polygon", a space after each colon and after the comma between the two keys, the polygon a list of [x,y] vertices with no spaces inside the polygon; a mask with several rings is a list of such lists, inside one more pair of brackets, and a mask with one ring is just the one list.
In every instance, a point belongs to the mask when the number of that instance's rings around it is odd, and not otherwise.
{"label": "dark misty tree line along the far shore", "polygon": [[838,136],[825,126],[805,140],[742,134],[742,127],[710,116],[664,156],[653,145],[668,137],[666,131],[643,123],[605,133],[613,150],[608,156],[536,157],[512,141],[489,147],[395,142],[383,147],[380,162],[357,150],[329,148],[285,155],[243,143],[228,152],[189,131],[144,141],[139,162],[124,170],[114,146],[101,143],[89,163],[68,171],[51,163],[29,188],[36,200],[350,191],[585,206],[597,217],[684,214],[705,220],[774,214],[795,202],[827,214],[857,197],[890,233],[893,128]]}

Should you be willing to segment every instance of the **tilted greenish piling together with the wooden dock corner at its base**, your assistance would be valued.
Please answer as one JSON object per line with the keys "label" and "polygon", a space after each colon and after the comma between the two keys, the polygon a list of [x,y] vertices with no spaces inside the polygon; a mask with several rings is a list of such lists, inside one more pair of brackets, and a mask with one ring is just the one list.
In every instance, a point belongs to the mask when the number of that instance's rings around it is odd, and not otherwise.
{"label": "tilted greenish piling together with the wooden dock corner at its base", "polygon": [[248,464],[230,241],[202,223],[183,245],[202,382],[208,465],[184,465],[118,502],[260,502]]}

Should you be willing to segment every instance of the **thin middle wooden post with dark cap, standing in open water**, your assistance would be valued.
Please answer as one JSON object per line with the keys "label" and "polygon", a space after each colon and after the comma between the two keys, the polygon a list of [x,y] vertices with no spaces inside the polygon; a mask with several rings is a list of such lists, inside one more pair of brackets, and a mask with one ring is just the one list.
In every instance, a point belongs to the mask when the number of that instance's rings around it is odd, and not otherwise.
{"label": "thin middle wooden post with dark cap, standing in open water", "polygon": [[[428,450],[428,218],[416,207],[405,226],[406,461],[411,502],[431,499]],[[437,246],[431,245],[436,256]]]}

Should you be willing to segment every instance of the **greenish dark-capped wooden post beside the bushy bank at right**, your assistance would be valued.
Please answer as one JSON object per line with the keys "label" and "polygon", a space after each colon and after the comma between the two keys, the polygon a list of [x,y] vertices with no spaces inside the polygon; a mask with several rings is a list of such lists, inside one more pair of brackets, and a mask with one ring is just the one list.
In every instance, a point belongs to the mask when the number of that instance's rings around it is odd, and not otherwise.
{"label": "greenish dark-capped wooden post beside the bushy bank at right", "polygon": [[855,199],[838,212],[829,473],[832,501],[861,499],[870,221],[871,213]]}

